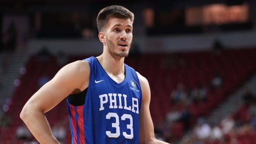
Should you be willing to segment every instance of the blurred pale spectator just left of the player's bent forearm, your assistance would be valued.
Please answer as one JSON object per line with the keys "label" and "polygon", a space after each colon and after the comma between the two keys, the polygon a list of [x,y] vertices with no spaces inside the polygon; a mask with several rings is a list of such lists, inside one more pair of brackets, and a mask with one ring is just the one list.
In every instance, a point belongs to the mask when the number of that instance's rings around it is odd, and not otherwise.
{"label": "blurred pale spectator just left of the player's bent forearm", "polygon": [[28,141],[31,140],[32,134],[25,123],[22,123],[22,125],[16,129],[16,138]]}

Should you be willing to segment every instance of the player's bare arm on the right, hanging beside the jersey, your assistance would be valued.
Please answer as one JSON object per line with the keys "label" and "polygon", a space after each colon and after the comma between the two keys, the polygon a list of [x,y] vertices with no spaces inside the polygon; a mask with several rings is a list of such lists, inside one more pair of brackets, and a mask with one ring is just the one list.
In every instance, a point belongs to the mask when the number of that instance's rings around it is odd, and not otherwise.
{"label": "player's bare arm on the right, hanging beside the jersey", "polygon": [[139,73],[138,77],[142,87],[142,107],[139,115],[139,143],[140,144],[168,144],[155,138],[154,125],[150,116],[150,87],[148,80]]}

